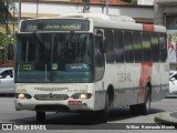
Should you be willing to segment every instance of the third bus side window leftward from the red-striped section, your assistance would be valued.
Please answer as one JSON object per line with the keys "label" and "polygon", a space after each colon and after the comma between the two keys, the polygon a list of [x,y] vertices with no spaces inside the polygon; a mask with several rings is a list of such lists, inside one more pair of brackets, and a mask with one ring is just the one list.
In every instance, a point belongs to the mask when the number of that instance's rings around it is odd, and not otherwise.
{"label": "third bus side window leftward from the red-striped section", "polygon": [[114,52],[115,52],[115,61],[117,63],[123,63],[124,62],[123,32],[118,30],[114,31]]}

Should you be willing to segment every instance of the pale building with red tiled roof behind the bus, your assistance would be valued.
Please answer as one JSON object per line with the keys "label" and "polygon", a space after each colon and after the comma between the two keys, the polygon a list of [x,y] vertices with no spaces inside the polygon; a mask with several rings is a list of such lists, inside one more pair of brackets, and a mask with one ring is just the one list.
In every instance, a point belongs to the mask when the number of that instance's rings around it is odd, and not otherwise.
{"label": "pale building with red tiled roof behind the bus", "polygon": [[[15,0],[15,17],[19,16],[19,1]],[[82,0],[21,0],[22,18],[58,17],[82,11]],[[106,13],[106,0],[91,0],[90,12]],[[137,22],[154,22],[153,6],[131,6],[124,2],[124,0],[110,0],[108,13],[128,16]]]}

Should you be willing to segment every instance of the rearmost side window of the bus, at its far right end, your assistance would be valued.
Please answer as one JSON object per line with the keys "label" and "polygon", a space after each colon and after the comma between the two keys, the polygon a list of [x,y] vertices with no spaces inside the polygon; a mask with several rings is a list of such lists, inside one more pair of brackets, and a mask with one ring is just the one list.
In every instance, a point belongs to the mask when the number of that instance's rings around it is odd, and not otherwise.
{"label": "rearmost side window of the bus, at its far right end", "polygon": [[160,48],[160,62],[166,62],[167,60],[166,34],[159,34],[159,48]]}

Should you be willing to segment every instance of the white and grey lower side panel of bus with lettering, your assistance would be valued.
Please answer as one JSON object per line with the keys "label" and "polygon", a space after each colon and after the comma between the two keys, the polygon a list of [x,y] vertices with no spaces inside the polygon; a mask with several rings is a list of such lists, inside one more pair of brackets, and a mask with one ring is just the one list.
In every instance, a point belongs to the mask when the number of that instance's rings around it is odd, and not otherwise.
{"label": "white and grey lower side panel of bus with lettering", "polygon": [[[164,69],[166,66],[166,70]],[[168,63],[153,63],[152,68],[142,71],[140,63],[108,64],[105,66],[105,75],[103,82],[104,88],[113,85],[114,88],[114,108],[140,104],[145,101],[145,88],[148,82],[152,84],[152,102],[162,100],[168,93]],[[107,69],[107,70],[106,70]],[[162,70],[160,70],[162,69]],[[112,70],[112,71],[108,71]],[[145,81],[140,86],[140,74],[147,74],[152,71],[152,80]],[[163,76],[162,73],[163,72]]]}

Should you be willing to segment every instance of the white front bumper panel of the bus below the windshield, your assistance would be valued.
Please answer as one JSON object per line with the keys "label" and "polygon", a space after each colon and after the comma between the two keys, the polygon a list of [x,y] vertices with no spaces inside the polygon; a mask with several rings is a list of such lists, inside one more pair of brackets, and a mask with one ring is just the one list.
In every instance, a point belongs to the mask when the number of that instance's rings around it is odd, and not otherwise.
{"label": "white front bumper panel of the bus below the windshield", "polygon": [[[18,83],[15,84],[15,93],[30,94],[31,99],[15,100],[17,110],[35,110],[38,105],[64,105],[69,111],[77,110],[94,110],[94,84],[93,83],[65,83],[65,84],[51,84],[51,83]],[[75,93],[92,93],[88,100],[74,100],[72,98]],[[62,94],[61,98],[55,98],[56,94]],[[39,95],[39,98],[37,98]],[[52,98],[53,95],[53,98]],[[64,98],[66,96],[66,98]],[[43,100],[42,100],[43,99]],[[58,100],[55,100],[58,99]],[[69,101],[81,101],[79,105],[70,105]],[[28,106],[29,105],[29,106]]]}

